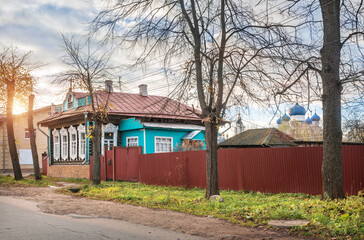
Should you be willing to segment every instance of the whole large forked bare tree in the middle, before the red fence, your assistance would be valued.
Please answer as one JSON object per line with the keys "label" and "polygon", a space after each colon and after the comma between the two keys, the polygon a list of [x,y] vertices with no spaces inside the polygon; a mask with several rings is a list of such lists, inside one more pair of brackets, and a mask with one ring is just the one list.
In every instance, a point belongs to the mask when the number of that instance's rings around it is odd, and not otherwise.
{"label": "whole large forked bare tree in the middle, before the red fence", "polygon": [[279,42],[279,29],[267,26],[243,1],[108,3],[93,21],[94,33],[119,41],[123,49],[141,48],[136,64],[155,55],[165,56],[167,66],[173,59],[184,62],[181,81],[172,94],[198,99],[201,111],[194,112],[206,129],[206,197],[219,194],[218,128],[224,123],[232,96],[244,93],[244,97],[257,97],[260,83],[252,79],[265,78],[263,56]]}

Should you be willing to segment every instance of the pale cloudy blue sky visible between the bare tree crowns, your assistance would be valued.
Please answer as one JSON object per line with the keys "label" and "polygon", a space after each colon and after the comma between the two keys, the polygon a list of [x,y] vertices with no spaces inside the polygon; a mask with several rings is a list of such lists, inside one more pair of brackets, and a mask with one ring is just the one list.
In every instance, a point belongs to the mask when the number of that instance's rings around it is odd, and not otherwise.
{"label": "pale cloudy blue sky visible between the bare tree crowns", "polygon": [[[0,43],[16,46],[24,52],[32,51],[32,60],[43,64],[43,67],[32,72],[37,79],[36,108],[62,102],[69,86],[52,83],[54,75],[65,70],[60,61],[64,54],[61,33],[75,36],[87,34],[88,24],[101,7],[97,4],[97,1],[91,0],[0,0]],[[122,66],[130,57],[122,52],[117,53],[114,64]],[[144,69],[130,71],[121,68],[120,76],[122,81],[129,82],[123,86],[124,92],[137,93],[139,84],[148,84],[148,93],[152,95],[165,96],[171,90],[167,86],[163,62],[158,58]],[[288,104],[282,110],[289,107]],[[312,108],[322,116],[320,105]],[[273,116],[251,107],[242,116],[244,125],[256,128],[276,126],[279,114]],[[235,118],[237,114],[232,112],[230,120]]]}

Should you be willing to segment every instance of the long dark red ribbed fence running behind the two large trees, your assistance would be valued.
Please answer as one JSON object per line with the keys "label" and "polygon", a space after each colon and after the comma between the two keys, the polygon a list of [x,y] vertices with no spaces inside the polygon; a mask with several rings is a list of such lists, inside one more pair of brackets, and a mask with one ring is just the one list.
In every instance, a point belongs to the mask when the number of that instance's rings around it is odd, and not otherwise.
{"label": "long dark red ribbed fence running behind the two large trees", "polygon": [[[270,193],[321,193],[322,147],[245,148],[218,151],[221,189]],[[343,146],[344,191],[364,189],[364,146]],[[139,181],[205,187],[205,151],[139,156]]]}

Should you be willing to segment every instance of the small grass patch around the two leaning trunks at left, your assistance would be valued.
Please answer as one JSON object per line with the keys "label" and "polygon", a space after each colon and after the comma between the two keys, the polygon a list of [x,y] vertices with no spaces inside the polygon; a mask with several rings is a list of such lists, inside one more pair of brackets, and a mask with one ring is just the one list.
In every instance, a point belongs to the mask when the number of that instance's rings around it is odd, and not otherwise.
{"label": "small grass patch around the two leaning trunks at left", "polygon": [[57,185],[57,182],[69,182],[69,183],[80,183],[80,184],[91,184],[90,180],[87,179],[76,179],[76,178],[54,178],[42,176],[41,181],[35,181],[34,175],[24,177],[22,180],[15,181],[10,175],[0,175],[0,186],[3,187],[47,187],[51,185]]}

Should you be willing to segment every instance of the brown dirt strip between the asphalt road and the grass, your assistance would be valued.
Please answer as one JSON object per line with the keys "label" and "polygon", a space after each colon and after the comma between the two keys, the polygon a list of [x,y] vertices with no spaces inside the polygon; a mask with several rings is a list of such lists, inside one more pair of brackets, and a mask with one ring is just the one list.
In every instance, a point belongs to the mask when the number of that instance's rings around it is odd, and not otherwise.
{"label": "brown dirt strip between the asphalt road and the grass", "polygon": [[[67,183],[63,185],[67,187]],[[246,228],[213,217],[197,217],[173,211],[76,198],[56,193],[56,189],[55,187],[0,187],[0,195],[37,202],[39,209],[45,213],[119,219],[211,239],[304,239],[291,236],[286,230]]]}

